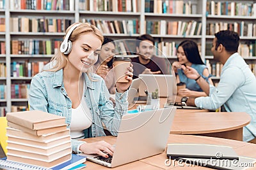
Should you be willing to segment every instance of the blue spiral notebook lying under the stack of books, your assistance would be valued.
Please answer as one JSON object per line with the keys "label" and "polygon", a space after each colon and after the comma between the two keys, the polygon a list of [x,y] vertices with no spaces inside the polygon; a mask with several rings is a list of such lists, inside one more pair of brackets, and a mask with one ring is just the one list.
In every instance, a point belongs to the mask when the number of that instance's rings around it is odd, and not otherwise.
{"label": "blue spiral notebook lying under the stack of books", "polygon": [[76,155],[76,154],[72,154],[72,159],[68,160],[58,166],[54,166],[51,168],[45,168],[45,167],[40,167],[40,166],[33,166],[33,165],[29,165],[29,164],[22,164],[19,162],[13,162],[10,160],[6,160],[6,157],[0,159],[0,169],[15,169],[15,170],[65,170],[65,169],[70,169],[72,167],[75,167],[79,164],[82,164],[86,161],[86,157],[83,157],[81,155]]}

